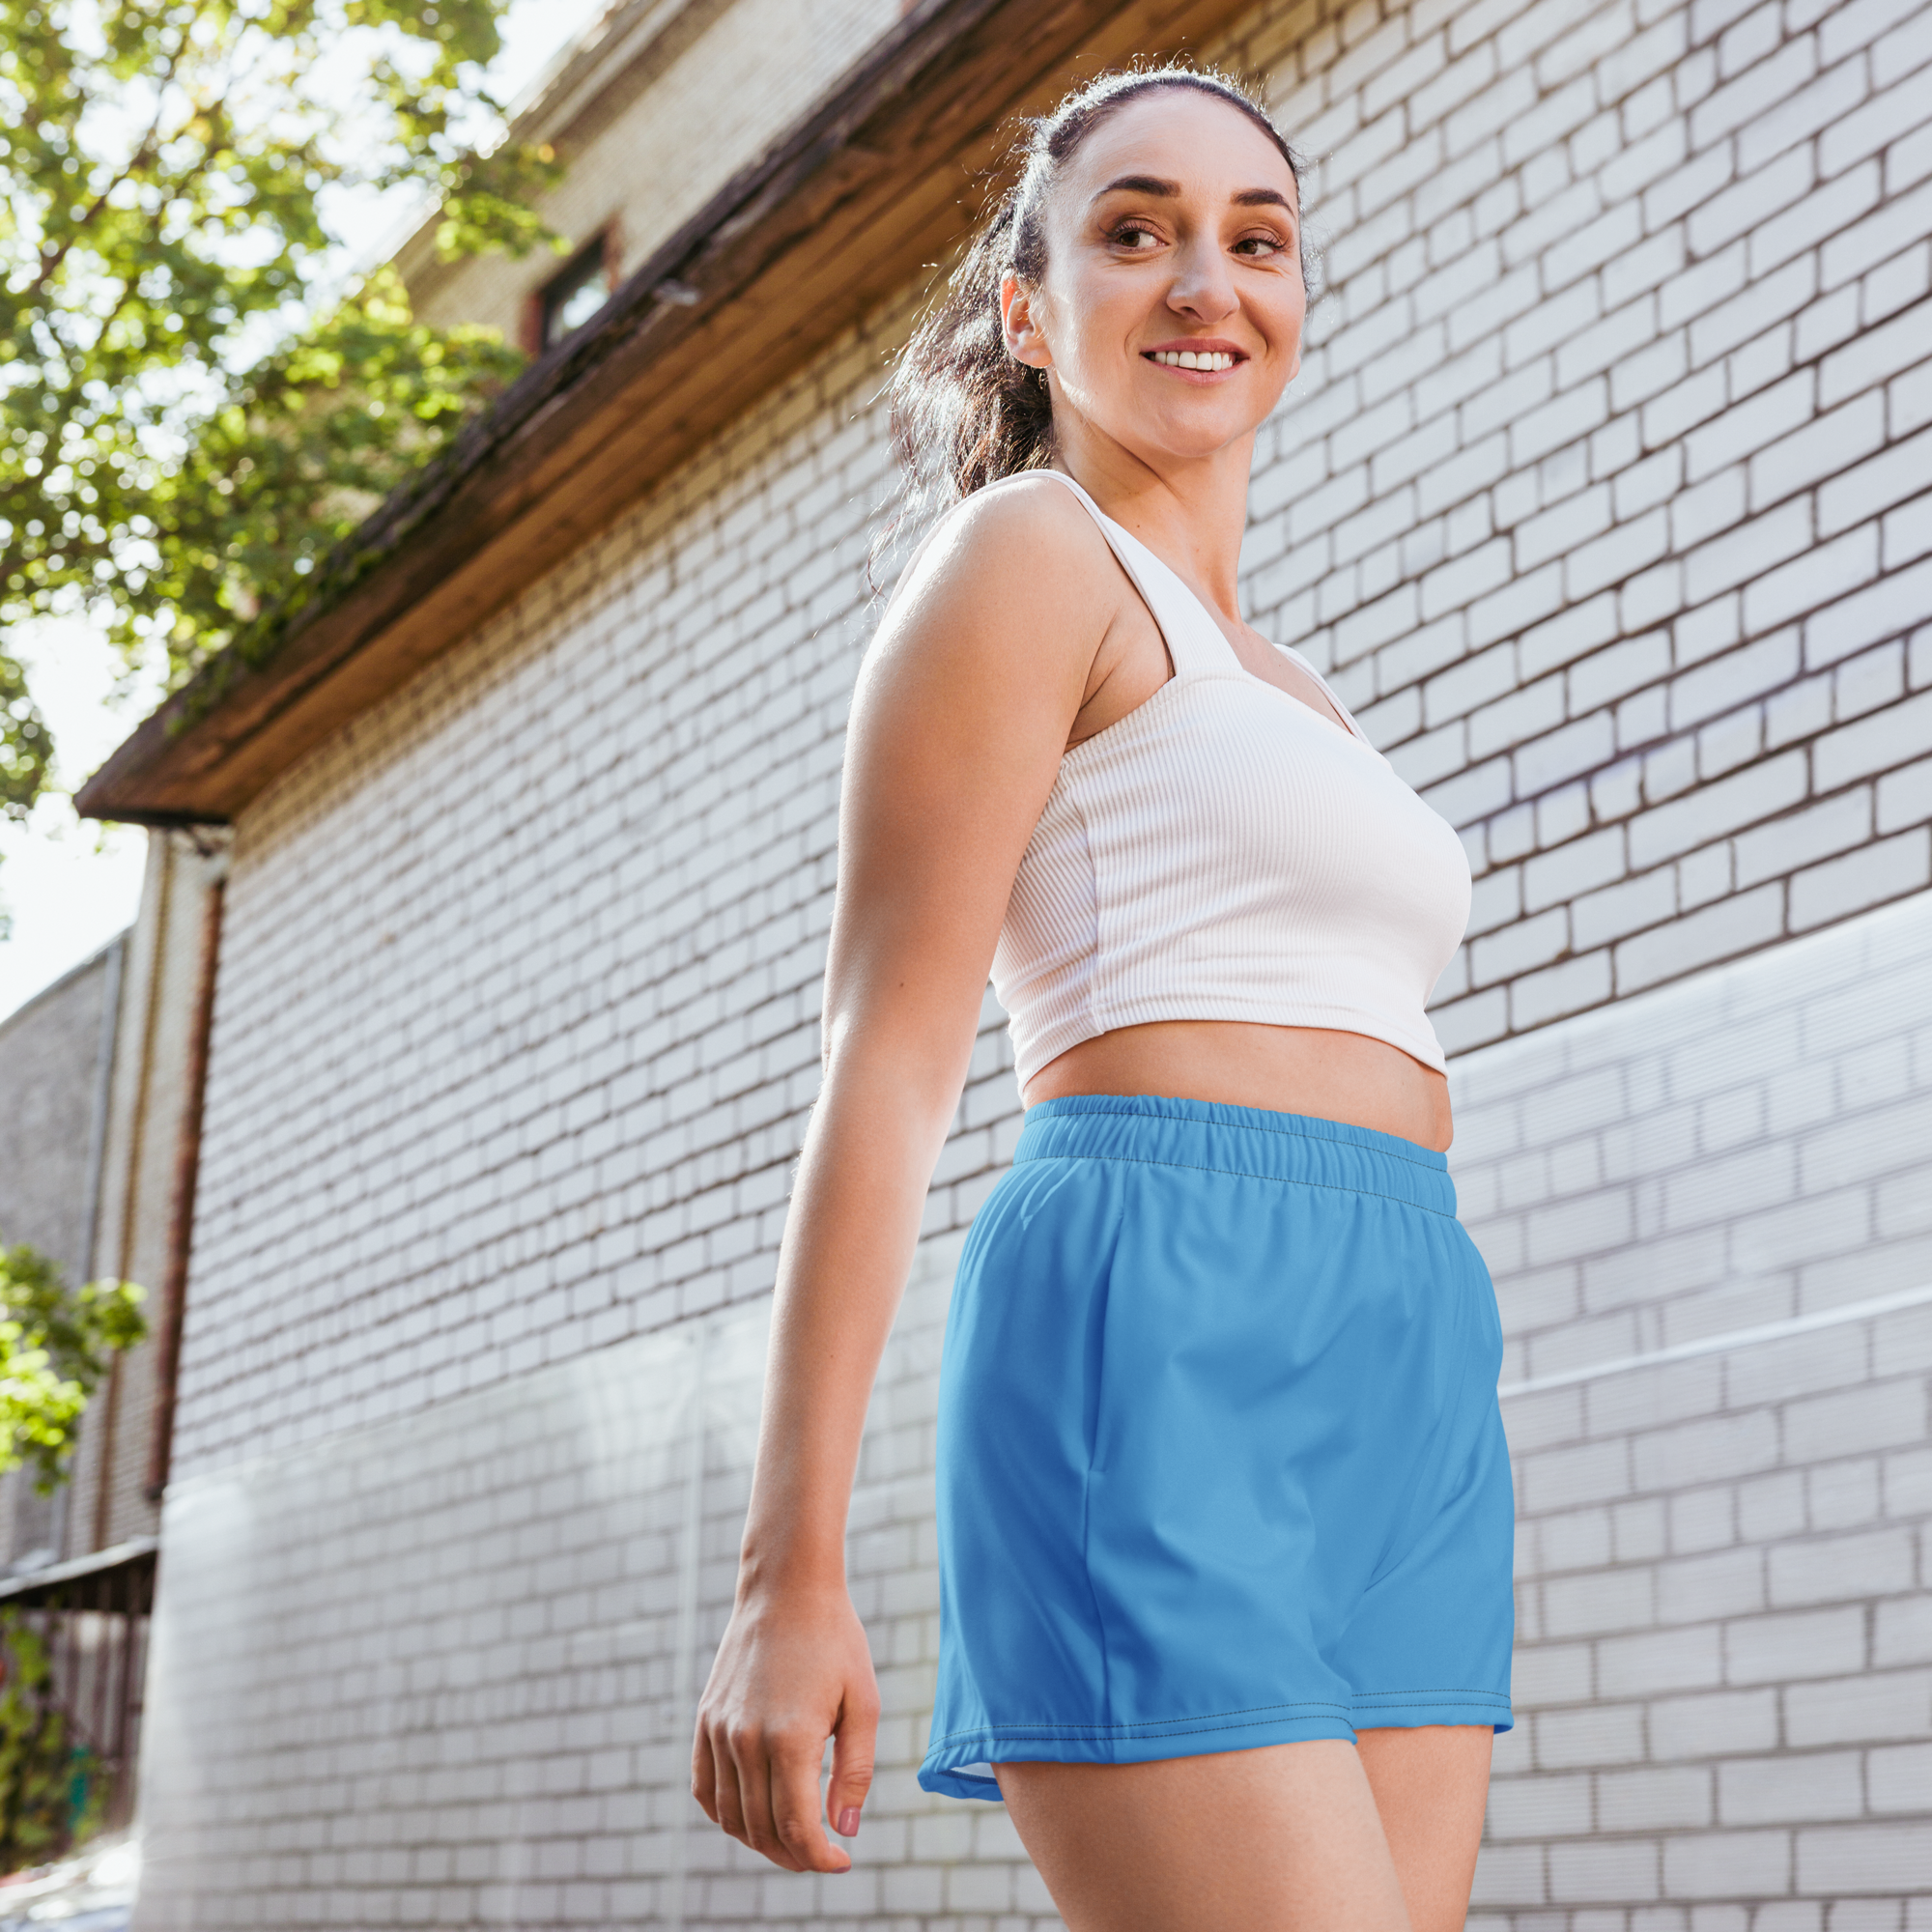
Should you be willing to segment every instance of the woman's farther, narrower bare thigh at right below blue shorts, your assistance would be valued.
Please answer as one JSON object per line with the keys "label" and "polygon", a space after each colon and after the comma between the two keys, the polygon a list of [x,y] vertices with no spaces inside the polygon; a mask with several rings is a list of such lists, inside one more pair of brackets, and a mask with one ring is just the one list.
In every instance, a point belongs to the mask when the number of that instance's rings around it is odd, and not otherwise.
{"label": "woman's farther, narrower bare thigh at right below blue shorts", "polygon": [[1356,1731],[1414,1932],[1457,1932],[1490,1799],[1490,1725]]}

